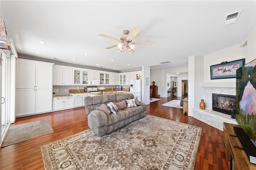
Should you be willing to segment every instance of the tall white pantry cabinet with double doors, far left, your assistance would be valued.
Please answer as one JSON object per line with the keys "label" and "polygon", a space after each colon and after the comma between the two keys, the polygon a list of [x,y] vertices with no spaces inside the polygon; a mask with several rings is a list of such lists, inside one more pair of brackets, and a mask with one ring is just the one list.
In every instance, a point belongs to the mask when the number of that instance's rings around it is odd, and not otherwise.
{"label": "tall white pantry cabinet with double doors, far left", "polygon": [[17,59],[16,117],[52,111],[53,64]]}

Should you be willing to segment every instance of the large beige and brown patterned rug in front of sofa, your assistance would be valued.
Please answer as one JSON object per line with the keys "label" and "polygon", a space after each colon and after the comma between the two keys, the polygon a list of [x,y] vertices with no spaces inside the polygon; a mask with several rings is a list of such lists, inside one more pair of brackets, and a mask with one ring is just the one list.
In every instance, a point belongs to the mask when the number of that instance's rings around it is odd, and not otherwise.
{"label": "large beige and brown patterned rug in front of sofa", "polygon": [[98,137],[85,130],[41,146],[46,170],[194,170],[202,128],[146,115]]}

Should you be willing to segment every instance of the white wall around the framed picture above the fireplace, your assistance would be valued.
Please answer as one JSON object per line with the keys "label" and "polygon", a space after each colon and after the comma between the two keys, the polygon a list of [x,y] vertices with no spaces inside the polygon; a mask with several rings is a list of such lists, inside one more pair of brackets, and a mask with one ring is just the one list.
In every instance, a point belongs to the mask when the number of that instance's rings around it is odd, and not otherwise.
{"label": "white wall around the framed picture above the fireplace", "polygon": [[[232,47],[216,51],[214,53],[205,55],[202,57],[192,56],[188,58],[188,115],[192,116],[192,108],[198,108],[200,99],[203,99],[203,88],[205,87],[227,87],[235,88],[236,78],[231,79],[210,79],[210,65],[215,65],[221,63],[221,61],[233,61],[236,59],[245,58],[245,63],[248,63],[256,58],[256,26],[252,27],[250,32],[248,32],[245,39]],[[247,45],[241,47],[240,44],[247,42]],[[201,64],[202,73],[196,73],[197,67]],[[199,77],[202,76],[203,79]],[[199,78],[199,79],[198,79]],[[202,86],[204,84],[204,86]]]}

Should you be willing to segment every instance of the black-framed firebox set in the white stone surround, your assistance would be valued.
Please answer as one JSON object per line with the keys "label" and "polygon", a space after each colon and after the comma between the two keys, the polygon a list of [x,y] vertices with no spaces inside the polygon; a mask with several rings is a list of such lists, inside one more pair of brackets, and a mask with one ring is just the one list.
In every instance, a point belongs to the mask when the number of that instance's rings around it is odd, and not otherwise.
{"label": "black-framed firebox set in the white stone surround", "polygon": [[212,110],[236,118],[236,96],[212,94]]}

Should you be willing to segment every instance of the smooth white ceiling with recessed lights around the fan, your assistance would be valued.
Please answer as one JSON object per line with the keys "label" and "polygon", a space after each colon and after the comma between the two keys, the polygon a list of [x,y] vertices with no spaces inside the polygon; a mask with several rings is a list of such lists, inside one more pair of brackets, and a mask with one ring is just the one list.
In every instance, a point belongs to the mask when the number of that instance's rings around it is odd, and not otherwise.
{"label": "smooth white ceiling with recessed lights around the fan", "polygon": [[[142,65],[152,69],[188,65],[188,56],[240,43],[256,22],[255,0],[19,0],[1,1],[0,10],[18,55],[121,72]],[[239,10],[238,22],[224,26],[225,15]],[[133,41],[153,45],[119,53],[118,47],[106,49],[118,41],[99,36],[119,39],[123,30],[133,27],[141,29]],[[172,63],[159,64],[166,61]]]}

